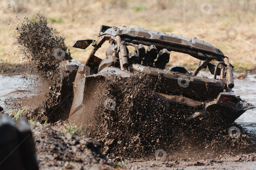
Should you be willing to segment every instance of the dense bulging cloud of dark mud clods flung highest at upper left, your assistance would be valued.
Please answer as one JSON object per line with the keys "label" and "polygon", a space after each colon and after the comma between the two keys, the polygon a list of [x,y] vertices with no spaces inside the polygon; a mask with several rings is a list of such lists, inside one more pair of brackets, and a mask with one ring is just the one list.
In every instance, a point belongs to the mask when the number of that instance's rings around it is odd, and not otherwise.
{"label": "dense bulging cloud of dark mud clods flung highest at upper left", "polygon": [[25,18],[16,28],[21,53],[45,73],[56,71],[62,59],[72,59],[70,52],[66,53],[65,38],[55,35],[48,25],[47,18],[37,14],[35,18]]}

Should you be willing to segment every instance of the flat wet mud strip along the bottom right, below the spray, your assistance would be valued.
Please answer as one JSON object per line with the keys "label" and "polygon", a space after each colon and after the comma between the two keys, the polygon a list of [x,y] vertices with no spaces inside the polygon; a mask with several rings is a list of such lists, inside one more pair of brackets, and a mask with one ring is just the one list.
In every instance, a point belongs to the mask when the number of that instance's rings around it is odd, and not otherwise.
{"label": "flat wet mud strip along the bottom right, below the spray", "polygon": [[170,160],[170,161],[140,161],[126,162],[127,169],[255,169],[256,154],[234,156],[227,153],[217,159]]}

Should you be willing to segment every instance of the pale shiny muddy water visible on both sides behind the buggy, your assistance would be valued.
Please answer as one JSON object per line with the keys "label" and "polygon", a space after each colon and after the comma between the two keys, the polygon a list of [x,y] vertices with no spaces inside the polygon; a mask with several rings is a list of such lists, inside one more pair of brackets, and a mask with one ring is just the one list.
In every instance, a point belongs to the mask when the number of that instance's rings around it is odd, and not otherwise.
{"label": "pale shiny muddy water visible on both sides behind the buggy", "polygon": [[[239,73],[234,73],[234,76],[239,75]],[[198,76],[207,76],[212,78],[207,71],[201,71]],[[5,111],[9,109],[8,105],[5,105],[5,100],[10,98],[19,98],[24,96],[33,95],[34,88],[36,87],[36,80],[29,75],[0,75],[0,106],[4,108]],[[248,74],[245,79],[235,79],[235,87],[233,91],[241,99],[256,105],[256,75]],[[35,93],[34,93],[35,94]],[[241,115],[235,122],[244,125],[243,127],[247,129],[250,133],[256,134],[256,109],[247,110],[243,115]]]}

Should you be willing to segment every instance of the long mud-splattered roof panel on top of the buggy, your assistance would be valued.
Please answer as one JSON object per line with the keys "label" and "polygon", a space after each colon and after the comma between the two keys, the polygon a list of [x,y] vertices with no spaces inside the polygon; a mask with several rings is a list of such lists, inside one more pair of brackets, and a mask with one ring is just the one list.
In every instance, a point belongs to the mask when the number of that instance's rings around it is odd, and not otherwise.
{"label": "long mud-splattered roof panel on top of the buggy", "polygon": [[159,43],[167,43],[172,46],[178,46],[181,48],[189,48],[193,50],[198,50],[201,52],[207,52],[211,54],[217,54],[219,56],[223,56],[221,50],[214,47],[213,45],[206,43],[202,40],[194,38],[187,38],[182,36],[177,36],[174,34],[168,34],[158,31],[151,31],[151,30],[145,30],[141,27],[128,27],[128,26],[122,26],[122,27],[111,27],[107,29],[105,32],[100,34],[102,35],[112,35],[112,36],[121,36],[121,37],[134,37],[134,39],[140,39],[140,40],[147,40]]}

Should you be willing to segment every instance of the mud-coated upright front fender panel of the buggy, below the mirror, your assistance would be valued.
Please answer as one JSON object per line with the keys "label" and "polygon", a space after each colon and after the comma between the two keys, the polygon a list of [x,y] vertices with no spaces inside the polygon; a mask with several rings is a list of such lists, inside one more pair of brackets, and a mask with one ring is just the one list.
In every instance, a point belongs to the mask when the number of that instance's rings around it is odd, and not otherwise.
{"label": "mud-coated upright front fender panel of the buggy, below the mirror", "polygon": [[100,103],[98,95],[102,95],[102,75],[88,76],[90,68],[80,65],[74,82],[74,99],[69,113],[69,119],[76,124],[94,124],[95,108]]}

